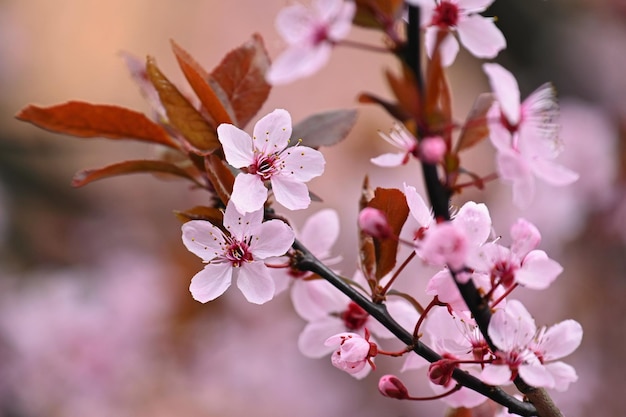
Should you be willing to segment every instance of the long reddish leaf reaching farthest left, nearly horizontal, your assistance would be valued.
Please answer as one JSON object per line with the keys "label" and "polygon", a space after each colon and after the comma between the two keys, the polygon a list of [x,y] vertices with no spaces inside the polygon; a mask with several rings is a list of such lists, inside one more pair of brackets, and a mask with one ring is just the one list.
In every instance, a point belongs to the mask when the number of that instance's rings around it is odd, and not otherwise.
{"label": "long reddish leaf reaching farthest left, nearly horizontal", "polygon": [[161,127],[144,114],[107,104],[70,101],[51,107],[27,106],[16,117],[56,133],[82,138],[136,139],[178,148]]}

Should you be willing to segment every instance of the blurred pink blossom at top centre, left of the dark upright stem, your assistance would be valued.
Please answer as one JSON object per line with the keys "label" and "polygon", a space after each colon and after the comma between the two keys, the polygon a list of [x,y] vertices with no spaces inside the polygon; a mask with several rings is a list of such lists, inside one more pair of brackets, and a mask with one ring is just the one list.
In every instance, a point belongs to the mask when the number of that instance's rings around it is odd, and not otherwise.
{"label": "blurred pink blossom at top centre, left of the dark upright stem", "polygon": [[311,8],[294,4],[276,17],[276,29],[289,44],[270,67],[270,84],[287,84],[308,77],[330,59],[337,41],[348,36],[356,5],[344,0],[315,0]]}

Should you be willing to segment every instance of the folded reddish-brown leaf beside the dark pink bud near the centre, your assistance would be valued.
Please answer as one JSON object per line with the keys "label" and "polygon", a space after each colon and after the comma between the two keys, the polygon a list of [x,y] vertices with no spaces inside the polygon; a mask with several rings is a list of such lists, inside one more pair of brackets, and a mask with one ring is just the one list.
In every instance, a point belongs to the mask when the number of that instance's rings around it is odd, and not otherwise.
{"label": "folded reddish-brown leaf beside the dark pink bud near the centre", "polygon": [[[409,206],[402,191],[395,188],[376,188],[374,198],[367,204],[387,215],[389,226],[399,235],[409,215]],[[396,265],[398,241],[395,239],[374,239],[376,248],[376,278],[380,280]]]}

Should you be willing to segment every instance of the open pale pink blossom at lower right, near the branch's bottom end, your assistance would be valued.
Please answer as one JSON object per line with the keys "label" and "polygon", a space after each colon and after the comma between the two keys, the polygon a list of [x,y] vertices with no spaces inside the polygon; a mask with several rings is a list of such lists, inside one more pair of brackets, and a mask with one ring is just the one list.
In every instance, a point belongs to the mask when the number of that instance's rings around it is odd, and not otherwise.
{"label": "open pale pink blossom at lower right, near the branch's bottom end", "polygon": [[488,333],[498,351],[481,373],[484,382],[504,385],[519,375],[534,387],[564,390],[577,379],[571,366],[560,361],[546,363],[569,355],[580,345],[582,328],[574,320],[537,332],[524,305],[511,300],[493,314]]}

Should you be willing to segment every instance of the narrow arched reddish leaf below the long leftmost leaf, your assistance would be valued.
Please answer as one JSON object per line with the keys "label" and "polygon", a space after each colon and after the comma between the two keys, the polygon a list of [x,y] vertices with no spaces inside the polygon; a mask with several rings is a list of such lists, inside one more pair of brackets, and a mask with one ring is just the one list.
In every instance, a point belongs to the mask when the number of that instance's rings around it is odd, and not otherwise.
{"label": "narrow arched reddish leaf below the long leftmost leaf", "polygon": [[74,175],[72,185],[74,187],[82,187],[90,182],[104,178],[138,173],[162,173],[176,175],[191,180],[201,186],[201,184],[199,184],[198,181],[184,169],[179,168],[174,164],[170,164],[169,162],[152,160],[123,161],[105,166],[103,168],[85,169]]}

